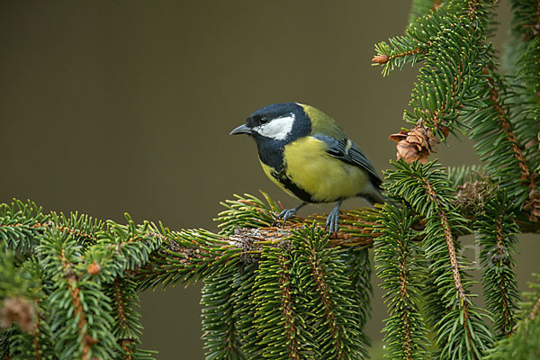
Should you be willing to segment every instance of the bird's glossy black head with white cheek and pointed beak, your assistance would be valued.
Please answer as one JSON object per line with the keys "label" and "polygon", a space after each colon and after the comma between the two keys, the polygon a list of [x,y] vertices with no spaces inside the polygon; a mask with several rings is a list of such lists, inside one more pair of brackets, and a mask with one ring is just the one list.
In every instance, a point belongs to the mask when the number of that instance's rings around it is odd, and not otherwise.
{"label": "bird's glossy black head with white cheek and pointed beak", "polygon": [[245,124],[230,132],[248,134],[257,144],[286,144],[311,132],[310,118],[299,103],[274,103],[253,112]]}

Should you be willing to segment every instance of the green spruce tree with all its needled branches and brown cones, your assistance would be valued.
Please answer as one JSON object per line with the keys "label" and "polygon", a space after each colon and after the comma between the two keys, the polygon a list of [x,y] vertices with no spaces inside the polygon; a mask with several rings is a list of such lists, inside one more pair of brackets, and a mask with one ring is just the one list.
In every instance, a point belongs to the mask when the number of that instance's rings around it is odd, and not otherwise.
{"label": "green spruce tree with all its needled branches and brown cones", "polygon": [[[410,129],[391,135],[389,202],[343,211],[336,236],[320,215],[281,226],[266,193],[223,202],[218,232],[0,205],[2,356],[153,358],[138,292],[202,281],[207,359],[365,358],[374,270],[386,358],[538,358],[540,286],[520,302],[514,255],[519,233],[540,231],[540,5],[510,4],[506,73],[490,42],[495,1],[415,0],[405,34],[375,46],[383,75],[419,66]],[[430,158],[462,136],[482,166]],[[479,267],[460,252],[466,234]]]}

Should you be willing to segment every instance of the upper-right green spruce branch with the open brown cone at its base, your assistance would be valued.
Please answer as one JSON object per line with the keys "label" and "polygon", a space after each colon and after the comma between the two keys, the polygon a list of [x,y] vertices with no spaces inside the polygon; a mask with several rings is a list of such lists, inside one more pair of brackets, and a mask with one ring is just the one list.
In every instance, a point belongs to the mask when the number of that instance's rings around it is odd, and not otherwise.
{"label": "upper-right green spruce branch with the open brown cone at its base", "polygon": [[[482,107],[476,88],[482,69],[477,62],[485,51],[484,34],[472,14],[476,14],[476,10],[461,14],[459,9],[444,6],[410,24],[405,39],[414,39],[418,32],[431,38],[413,88],[412,110],[406,110],[403,116],[417,127],[391,136],[399,141],[398,158],[408,162],[425,161],[435,150],[437,137],[446,140],[449,132],[463,133],[466,124],[461,117]],[[391,49],[386,52],[390,53]],[[393,67],[385,67],[386,71],[388,68]],[[426,132],[423,136],[426,139],[411,140],[410,133],[420,130]],[[428,130],[433,133],[428,134]]]}

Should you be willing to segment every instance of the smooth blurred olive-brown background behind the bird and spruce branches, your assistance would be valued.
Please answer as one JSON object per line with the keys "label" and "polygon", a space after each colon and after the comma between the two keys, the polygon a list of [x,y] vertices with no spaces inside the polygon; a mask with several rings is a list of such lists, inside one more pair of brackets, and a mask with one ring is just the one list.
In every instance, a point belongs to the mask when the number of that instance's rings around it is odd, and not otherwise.
{"label": "smooth blurred olive-brown background behind the bird and spruce branches", "polygon": [[[416,71],[383,78],[370,60],[374,43],[404,31],[409,10],[408,1],[1,1],[0,202],[212,230],[232,193],[264,189],[292,206],[255,144],[229,137],[277,102],[327,112],[383,170]],[[477,162],[467,141],[451,145],[439,146],[444,165]],[[537,263],[535,237],[521,239],[523,289]],[[375,287],[375,347],[381,295]],[[159,359],[201,359],[199,296],[200,285],[142,293],[143,346]]]}

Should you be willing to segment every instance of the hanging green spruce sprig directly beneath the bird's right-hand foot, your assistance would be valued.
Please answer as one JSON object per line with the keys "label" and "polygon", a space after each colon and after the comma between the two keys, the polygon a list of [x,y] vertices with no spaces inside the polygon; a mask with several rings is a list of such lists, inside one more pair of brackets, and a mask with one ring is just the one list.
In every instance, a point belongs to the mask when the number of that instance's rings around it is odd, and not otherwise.
{"label": "hanging green spruce sprig directly beneath the bird's right-hand foot", "polygon": [[293,231],[294,273],[299,291],[299,313],[308,324],[316,358],[357,359],[365,349],[358,307],[345,275],[338,247],[328,247],[328,234],[313,223]]}

